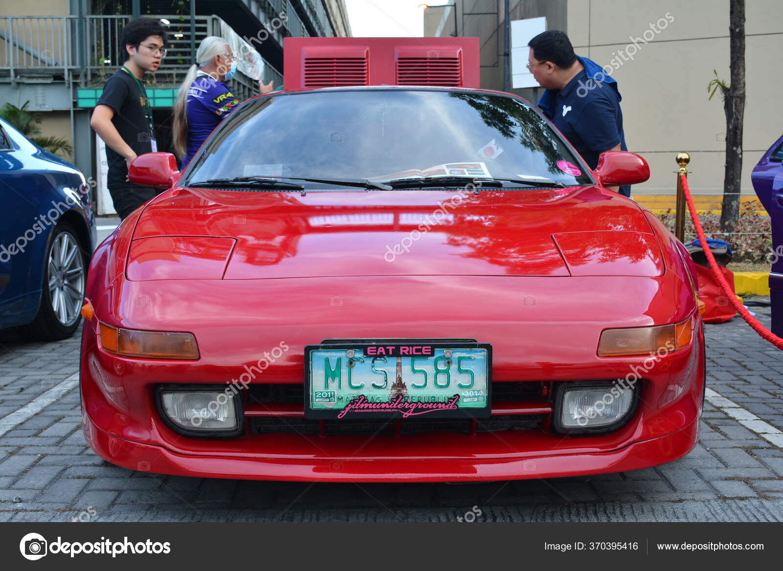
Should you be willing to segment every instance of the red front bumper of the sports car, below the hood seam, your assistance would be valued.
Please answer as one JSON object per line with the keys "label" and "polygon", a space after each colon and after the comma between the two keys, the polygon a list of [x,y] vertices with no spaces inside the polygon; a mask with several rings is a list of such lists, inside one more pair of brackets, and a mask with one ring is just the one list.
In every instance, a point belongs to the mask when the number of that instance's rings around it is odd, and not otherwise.
{"label": "red front bumper of the sports car, below the hood seam", "polygon": [[[666,276],[661,280],[666,282]],[[457,276],[447,282],[379,276],[363,280],[361,291],[345,295],[348,303],[339,306],[319,302],[317,292],[310,291],[316,287],[312,280],[202,280],[199,295],[193,295],[188,280],[171,280],[164,288],[154,282],[125,282],[121,292],[110,289],[99,298],[96,316],[121,327],[192,331],[200,360],[113,356],[101,348],[95,322],[85,323],[85,437],[96,453],[126,468],[240,479],[454,482],[586,475],[665,464],[687,454],[697,441],[704,390],[701,331],[690,347],[660,360],[599,358],[594,352],[603,327],[677,322],[693,311],[691,291],[674,296],[673,303],[671,287],[663,287],[668,282],[659,281],[535,277],[509,289],[507,280],[486,276]],[[355,287],[355,278],[319,280],[327,282],[337,292]],[[396,304],[377,302],[388,291],[411,288],[420,295]],[[595,300],[579,299],[573,295],[575,288],[597,292]],[[468,303],[466,295],[470,298],[477,291],[485,302]],[[525,296],[534,296],[535,305],[525,305]],[[622,304],[612,301],[616,308],[608,307],[608,299],[619,298]],[[426,301],[431,299],[438,299],[442,307],[432,307]],[[251,308],[247,314],[236,309],[239,302]],[[318,309],[319,303],[327,309]],[[515,309],[510,313],[509,307]],[[451,308],[459,309],[458,321]],[[610,309],[618,316],[607,323]],[[301,387],[305,345],[334,337],[335,331],[340,338],[367,336],[366,327],[355,323],[352,315],[373,316],[373,322],[384,323],[384,338],[444,338],[454,331],[470,332],[493,345],[493,383],[627,379],[631,371],[638,371],[640,405],[614,432],[571,437],[543,427],[372,438],[248,430],[238,438],[195,439],[172,432],[161,421],[153,398],[157,385],[244,382],[252,367],[261,366],[257,360],[262,354],[269,358],[263,350],[283,341],[287,352],[268,368],[255,370],[250,386]],[[425,315],[429,317],[423,319]]]}

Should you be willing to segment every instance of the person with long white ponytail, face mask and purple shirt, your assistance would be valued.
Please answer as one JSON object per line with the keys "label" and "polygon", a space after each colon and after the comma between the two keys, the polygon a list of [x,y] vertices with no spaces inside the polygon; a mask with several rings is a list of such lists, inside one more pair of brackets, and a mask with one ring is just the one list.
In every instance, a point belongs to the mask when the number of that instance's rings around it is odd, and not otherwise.
{"label": "person with long white ponytail, face mask and purple shirt", "polygon": [[[236,61],[229,42],[218,36],[204,38],[193,64],[179,86],[174,103],[174,148],[184,169],[212,130],[225,119],[239,99],[225,81],[236,73]],[[262,93],[272,91],[272,81],[258,81]]]}

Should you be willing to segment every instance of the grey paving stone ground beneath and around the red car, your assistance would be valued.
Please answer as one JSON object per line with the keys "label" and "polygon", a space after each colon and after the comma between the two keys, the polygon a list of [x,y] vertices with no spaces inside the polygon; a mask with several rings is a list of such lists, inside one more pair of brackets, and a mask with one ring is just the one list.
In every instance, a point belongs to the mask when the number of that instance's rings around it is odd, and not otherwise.
{"label": "grey paving stone ground beneath and around the red car", "polygon": [[[769,308],[752,308],[767,327]],[[709,388],[783,430],[783,352],[739,317],[707,325]],[[0,417],[78,372],[79,336],[0,334]],[[783,450],[705,403],[680,461],[473,484],[251,482],[118,468],[81,435],[78,388],[0,437],[0,521],[783,521]]]}

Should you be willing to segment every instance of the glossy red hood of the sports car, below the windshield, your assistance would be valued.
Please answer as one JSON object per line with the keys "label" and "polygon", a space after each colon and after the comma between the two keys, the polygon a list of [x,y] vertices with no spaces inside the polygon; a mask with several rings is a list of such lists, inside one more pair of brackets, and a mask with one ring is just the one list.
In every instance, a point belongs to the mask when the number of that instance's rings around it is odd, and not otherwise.
{"label": "glossy red hood of the sports car, below the windshield", "polygon": [[148,204],[128,277],[657,276],[636,203],[562,190],[247,192],[174,188]]}

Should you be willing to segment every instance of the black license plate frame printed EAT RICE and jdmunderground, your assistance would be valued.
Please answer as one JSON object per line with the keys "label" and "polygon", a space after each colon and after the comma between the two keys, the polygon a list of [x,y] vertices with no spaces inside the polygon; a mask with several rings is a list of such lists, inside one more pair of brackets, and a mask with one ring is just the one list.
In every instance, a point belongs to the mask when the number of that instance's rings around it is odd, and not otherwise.
{"label": "black license plate frame printed EAT RICE and jdmunderground", "polygon": [[[432,357],[438,356],[435,353],[438,351],[438,349],[441,350],[442,356],[442,350],[444,349],[452,349],[454,352],[459,352],[460,350],[474,350],[474,351],[485,351],[485,378],[486,378],[486,386],[483,388],[483,392],[485,392],[484,398],[484,406],[478,407],[478,406],[470,406],[470,407],[459,407],[459,399],[456,401],[456,407],[452,409],[437,409],[437,410],[426,410],[424,411],[423,405],[417,405],[417,407],[421,407],[419,409],[411,410],[410,408],[405,410],[398,410],[395,408],[392,408],[390,410],[355,410],[352,409],[348,411],[347,413],[343,414],[343,418],[405,418],[405,417],[424,417],[424,418],[454,418],[454,417],[475,417],[475,418],[482,418],[482,417],[489,417],[492,414],[492,345],[489,343],[479,343],[475,339],[463,339],[463,338],[454,338],[454,339],[419,339],[419,338],[394,338],[394,339],[324,339],[319,344],[312,344],[312,345],[305,345],[305,353],[304,353],[304,364],[305,364],[305,383],[304,383],[304,412],[305,412],[305,418],[309,419],[317,419],[317,420],[328,420],[328,419],[340,419],[341,412],[345,409],[347,406],[347,403],[344,407],[341,408],[330,408],[330,409],[324,409],[324,408],[313,408],[312,405],[312,396],[314,394],[313,387],[312,387],[312,353],[315,351],[322,351],[322,350],[340,350],[340,351],[347,351],[348,349],[354,349],[354,351],[358,354],[359,351],[362,352],[361,356],[370,356],[368,355],[368,352],[370,351],[377,351],[379,346],[383,346],[384,348],[388,348],[389,346],[397,348],[397,351],[401,351],[402,347],[429,347],[432,351]],[[373,348],[373,349],[370,349]],[[388,350],[388,349],[387,349]],[[414,350],[414,349],[409,349]],[[357,355],[358,356],[358,355]],[[428,355],[421,355],[421,354],[414,354],[414,355],[386,355],[383,356],[386,357],[392,357],[395,358],[396,356],[401,356],[402,360],[401,362],[409,363],[410,364],[410,357],[415,356],[417,358],[422,356],[428,356]],[[438,357],[439,357],[438,356]],[[406,357],[408,360],[406,360]],[[348,357],[344,356],[344,359],[347,360]],[[336,364],[336,363],[335,363]],[[387,364],[388,366],[388,364]],[[330,365],[331,367],[331,365]],[[451,370],[456,367],[456,363],[453,363],[450,367]],[[472,370],[472,369],[471,369]],[[325,371],[324,371],[325,374]],[[393,375],[389,375],[390,377]],[[345,379],[344,379],[345,380]],[[342,382],[342,381],[341,381]],[[427,381],[430,382],[429,380]],[[456,386],[456,382],[455,382]],[[377,388],[377,386],[376,386]],[[456,388],[456,391],[462,390],[462,387]],[[391,389],[390,389],[391,392]],[[357,394],[363,394],[363,393],[357,393]],[[445,393],[444,393],[445,394]],[[456,394],[456,393],[455,393]],[[358,398],[358,397],[356,397]],[[366,398],[366,397],[365,397]],[[453,396],[451,397],[453,398]],[[461,399],[461,396],[460,396]],[[402,398],[404,399],[404,397]],[[389,399],[389,402],[391,403],[391,396]],[[398,401],[399,402],[399,401]],[[388,405],[391,407],[391,404]],[[410,407],[411,405],[407,405]],[[402,406],[404,408],[405,405]],[[415,412],[416,414],[413,414]],[[406,414],[407,413],[407,414]]]}

